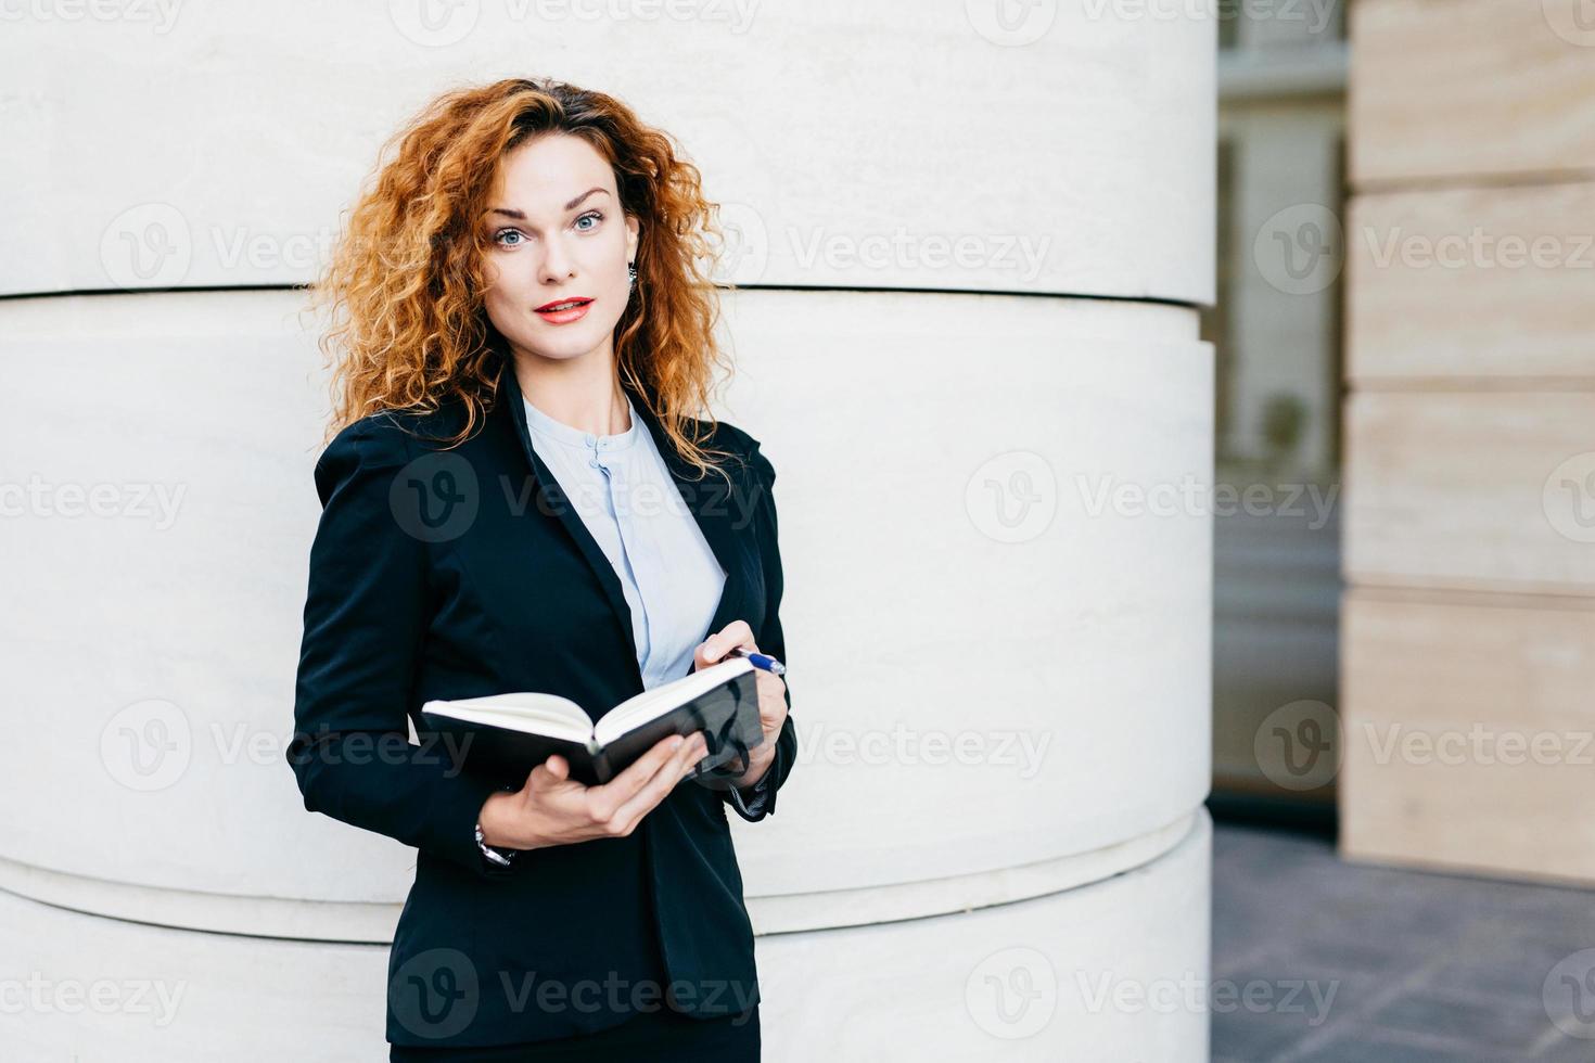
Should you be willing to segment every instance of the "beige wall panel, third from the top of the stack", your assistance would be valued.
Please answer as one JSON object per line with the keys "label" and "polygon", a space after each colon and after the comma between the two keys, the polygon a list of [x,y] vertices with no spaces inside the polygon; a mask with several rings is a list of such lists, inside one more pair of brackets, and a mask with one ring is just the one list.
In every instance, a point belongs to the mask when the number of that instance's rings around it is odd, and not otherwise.
{"label": "beige wall panel, third from the top of the stack", "polygon": [[1346,403],[1351,583],[1595,593],[1595,394]]}

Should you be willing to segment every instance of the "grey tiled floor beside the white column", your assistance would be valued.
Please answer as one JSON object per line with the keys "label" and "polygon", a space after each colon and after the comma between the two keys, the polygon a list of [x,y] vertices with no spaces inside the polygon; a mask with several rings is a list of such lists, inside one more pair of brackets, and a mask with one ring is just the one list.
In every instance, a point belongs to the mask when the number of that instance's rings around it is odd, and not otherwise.
{"label": "grey tiled floor beside the white column", "polygon": [[1327,837],[1220,822],[1212,915],[1214,1063],[1595,1061],[1595,953],[1574,956],[1595,891],[1348,864]]}

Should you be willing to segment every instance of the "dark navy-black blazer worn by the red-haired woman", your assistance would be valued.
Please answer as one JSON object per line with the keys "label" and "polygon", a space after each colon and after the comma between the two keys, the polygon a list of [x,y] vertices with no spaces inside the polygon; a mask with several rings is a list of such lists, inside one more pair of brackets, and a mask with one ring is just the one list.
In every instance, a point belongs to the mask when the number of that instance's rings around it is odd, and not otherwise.
{"label": "dark navy-black blazer worn by the red-haired woman", "polygon": [[[539,1041],[662,999],[702,1018],[743,1012],[759,990],[727,790],[681,783],[628,837],[528,849],[501,869],[474,837],[501,781],[455,773],[423,727],[429,698],[545,690],[597,719],[643,690],[620,582],[533,451],[502,355],[498,381],[458,448],[440,441],[464,424],[455,403],[370,414],[316,464],[322,515],[287,759],[306,810],[418,849],[389,956],[388,1039]],[[737,454],[734,486],[694,481],[632,394],[726,571],[705,634],[746,620],[785,658],[775,470],[758,440],[719,422],[710,443]],[[796,749],[788,717],[762,810],[734,805],[738,816],[774,814]]]}

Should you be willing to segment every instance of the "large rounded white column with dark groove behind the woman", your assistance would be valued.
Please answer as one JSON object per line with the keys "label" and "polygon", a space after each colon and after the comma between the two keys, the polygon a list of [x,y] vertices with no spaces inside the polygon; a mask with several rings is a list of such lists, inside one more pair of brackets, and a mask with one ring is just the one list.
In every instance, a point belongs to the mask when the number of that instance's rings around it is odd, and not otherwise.
{"label": "large rounded white column with dark groove behind the woman", "polygon": [[1212,25],[290,6],[8,30],[0,979],[179,1002],[46,994],[0,1042],[383,1050],[415,854],[282,760],[325,394],[284,285],[407,113],[547,73],[675,134],[738,233],[718,413],[778,469],[805,676],[782,811],[735,824],[766,1058],[1206,1058],[1199,1002],[1126,1001],[1207,971]]}

